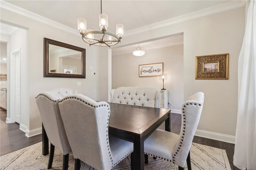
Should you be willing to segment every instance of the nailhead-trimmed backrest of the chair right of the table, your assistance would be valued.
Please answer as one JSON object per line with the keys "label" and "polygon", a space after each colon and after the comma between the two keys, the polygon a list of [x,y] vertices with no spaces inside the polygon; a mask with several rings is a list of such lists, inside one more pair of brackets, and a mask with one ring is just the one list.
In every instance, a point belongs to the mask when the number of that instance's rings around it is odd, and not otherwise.
{"label": "nailhead-trimmed backrest of the chair right of the table", "polygon": [[186,164],[186,158],[199,123],[203,103],[204,93],[197,92],[182,105],[182,125],[172,160],[178,166],[184,167]]}

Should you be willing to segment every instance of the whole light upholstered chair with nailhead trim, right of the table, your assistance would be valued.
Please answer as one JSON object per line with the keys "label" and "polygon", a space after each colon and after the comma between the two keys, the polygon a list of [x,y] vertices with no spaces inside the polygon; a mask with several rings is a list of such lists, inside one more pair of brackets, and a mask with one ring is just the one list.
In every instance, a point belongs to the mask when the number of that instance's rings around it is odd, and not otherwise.
{"label": "whole light upholstered chair with nailhead trim, right of the table", "polygon": [[179,170],[184,169],[187,160],[188,170],[191,170],[189,151],[200,119],[203,103],[204,93],[197,92],[190,96],[188,101],[185,101],[182,105],[180,134],[156,129],[144,141],[145,154],[173,162],[179,166]]}

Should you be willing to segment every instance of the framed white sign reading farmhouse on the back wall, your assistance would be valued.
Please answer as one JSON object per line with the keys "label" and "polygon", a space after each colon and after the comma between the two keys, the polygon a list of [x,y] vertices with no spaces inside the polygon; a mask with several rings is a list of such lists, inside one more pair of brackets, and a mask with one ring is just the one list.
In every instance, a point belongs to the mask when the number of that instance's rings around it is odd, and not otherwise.
{"label": "framed white sign reading farmhouse on the back wall", "polygon": [[139,77],[159,76],[163,74],[164,63],[152,63],[139,65]]}

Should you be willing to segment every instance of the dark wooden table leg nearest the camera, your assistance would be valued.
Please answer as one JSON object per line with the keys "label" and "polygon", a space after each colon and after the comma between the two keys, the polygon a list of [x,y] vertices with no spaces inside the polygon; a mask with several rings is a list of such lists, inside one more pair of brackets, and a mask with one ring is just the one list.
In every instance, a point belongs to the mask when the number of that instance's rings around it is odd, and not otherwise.
{"label": "dark wooden table leg nearest the camera", "polygon": [[132,170],[144,170],[144,139],[139,136],[133,138]]}

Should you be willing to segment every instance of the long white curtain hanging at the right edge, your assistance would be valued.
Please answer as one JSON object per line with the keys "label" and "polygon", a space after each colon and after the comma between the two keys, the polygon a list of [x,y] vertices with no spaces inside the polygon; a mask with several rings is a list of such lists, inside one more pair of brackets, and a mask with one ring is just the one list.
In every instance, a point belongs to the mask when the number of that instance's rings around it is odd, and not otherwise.
{"label": "long white curtain hanging at the right edge", "polygon": [[256,1],[248,6],[238,60],[238,115],[234,166],[256,170]]}

